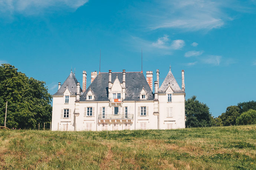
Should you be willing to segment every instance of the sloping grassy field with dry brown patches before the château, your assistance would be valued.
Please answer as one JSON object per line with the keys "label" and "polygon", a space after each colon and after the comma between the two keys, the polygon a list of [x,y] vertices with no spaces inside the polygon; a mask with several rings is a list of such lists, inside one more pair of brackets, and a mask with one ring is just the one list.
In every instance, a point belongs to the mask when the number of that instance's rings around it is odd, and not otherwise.
{"label": "sloping grassy field with dry brown patches before the ch\u00e2teau", "polygon": [[180,130],[0,130],[0,169],[256,169],[256,125]]}

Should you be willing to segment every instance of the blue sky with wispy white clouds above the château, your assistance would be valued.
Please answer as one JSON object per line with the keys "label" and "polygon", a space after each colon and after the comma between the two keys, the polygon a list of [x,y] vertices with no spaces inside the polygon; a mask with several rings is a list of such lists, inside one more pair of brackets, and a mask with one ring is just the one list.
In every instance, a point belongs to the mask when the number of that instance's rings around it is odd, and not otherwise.
{"label": "blue sky with wispy white clouds above the ch\u00e2teau", "polygon": [[50,94],[75,70],[171,71],[213,116],[256,100],[256,0],[0,0],[0,63]]}

